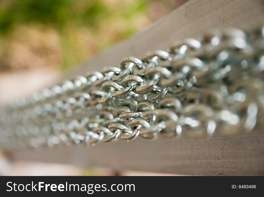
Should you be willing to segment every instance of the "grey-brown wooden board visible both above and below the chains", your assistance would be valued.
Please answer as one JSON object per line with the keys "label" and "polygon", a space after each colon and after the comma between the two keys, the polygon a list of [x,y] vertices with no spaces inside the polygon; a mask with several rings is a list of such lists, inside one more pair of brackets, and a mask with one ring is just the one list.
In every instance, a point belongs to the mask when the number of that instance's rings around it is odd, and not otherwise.
{"label": "grey-brown wooden board visible both above and below the chains", "polygon": [[[127,55],[140,57],[154,49],[167,49],[178,39],[200,37],[213,29],[241,27],[264,17],[262,0],[188,1],[151,27],[98,55],[70,73],[84,75],[104,66],[119,66]],[[264,175],[264,133],[261,130],[238,136],[208,139],[183,136],[174,141],[136,139],[79,148],[76,146],[21,150],[14,160],[72,163],[79,166],[110,167],[116,170],[144,170],[187,175]]]}

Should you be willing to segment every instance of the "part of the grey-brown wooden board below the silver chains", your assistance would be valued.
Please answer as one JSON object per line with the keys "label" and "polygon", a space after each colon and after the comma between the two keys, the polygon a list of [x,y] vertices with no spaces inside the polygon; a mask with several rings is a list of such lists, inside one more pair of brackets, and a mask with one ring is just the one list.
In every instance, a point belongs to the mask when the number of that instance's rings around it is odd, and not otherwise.
{"label": "part of the grey-brown wooden board below the silver chains", "polygon": [[110,167],[186,175],[264,175],[264,134],[208,139],[182,137],[155,141],[138,138],[131,142],[18,151],[16,160],[72,163],[77,166]]}

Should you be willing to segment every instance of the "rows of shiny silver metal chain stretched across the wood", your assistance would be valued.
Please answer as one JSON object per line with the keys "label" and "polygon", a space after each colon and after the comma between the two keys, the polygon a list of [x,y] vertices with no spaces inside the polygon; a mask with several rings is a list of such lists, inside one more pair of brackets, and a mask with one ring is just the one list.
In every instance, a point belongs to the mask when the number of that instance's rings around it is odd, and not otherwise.
{"label": "rows of shiny silver metal chain stretched across the wood", "polygon": [[2,106],[0,148],[250,132],[263,124],[263,70],[263,26],[180,40]]}

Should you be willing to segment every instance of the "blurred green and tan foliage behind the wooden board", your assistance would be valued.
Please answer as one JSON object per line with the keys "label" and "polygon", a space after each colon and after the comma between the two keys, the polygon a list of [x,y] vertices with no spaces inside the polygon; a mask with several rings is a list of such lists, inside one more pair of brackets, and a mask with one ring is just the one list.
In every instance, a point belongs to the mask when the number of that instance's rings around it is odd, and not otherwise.
{"label": "blurred green and tan foliage behind the wooden board", "polygon": [[186,0],[0,0],[0,72],[67,71]]}

